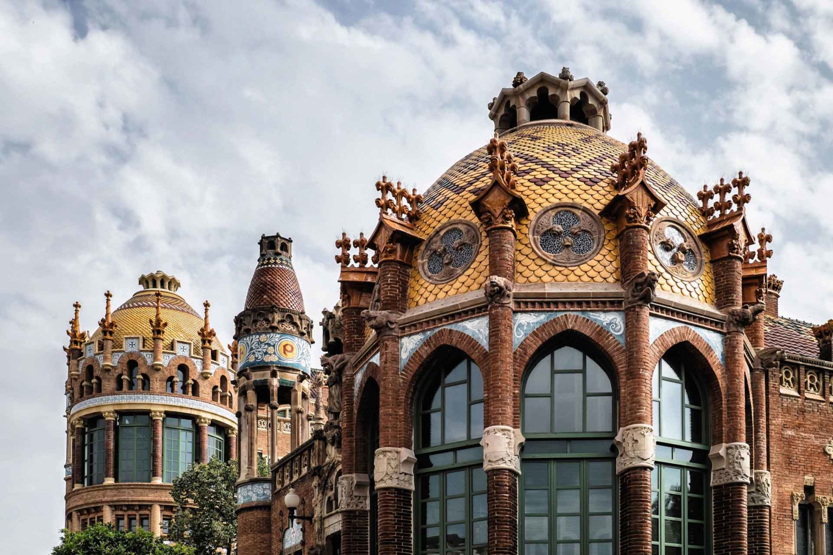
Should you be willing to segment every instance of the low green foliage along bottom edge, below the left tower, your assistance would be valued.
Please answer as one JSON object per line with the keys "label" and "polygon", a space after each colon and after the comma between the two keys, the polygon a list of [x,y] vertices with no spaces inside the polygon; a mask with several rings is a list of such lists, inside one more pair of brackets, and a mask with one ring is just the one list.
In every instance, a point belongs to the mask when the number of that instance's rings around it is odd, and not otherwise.
{"label": "low green foliage along bottom edge, below the left tower", "polygon": [[150,532],[118,532],[111,524],[95,524],[81,532],[62,533],[52,555],[193,555],[192,548],[166,545]]}

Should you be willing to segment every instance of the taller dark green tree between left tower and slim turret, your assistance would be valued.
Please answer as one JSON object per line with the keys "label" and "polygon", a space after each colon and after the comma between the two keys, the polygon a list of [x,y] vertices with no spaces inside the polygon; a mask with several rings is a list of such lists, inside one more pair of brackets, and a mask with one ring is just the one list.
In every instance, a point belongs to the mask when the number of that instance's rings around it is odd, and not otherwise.
{"label": "taller dark green tree between left tower and slim turret", "polygon": [[212,458],[192,464],[173,481],[171,497],[177,513],[169,537],[194,548],[196,555],[217,555],[218,548],[231,554],[237,539],[237,461]]}

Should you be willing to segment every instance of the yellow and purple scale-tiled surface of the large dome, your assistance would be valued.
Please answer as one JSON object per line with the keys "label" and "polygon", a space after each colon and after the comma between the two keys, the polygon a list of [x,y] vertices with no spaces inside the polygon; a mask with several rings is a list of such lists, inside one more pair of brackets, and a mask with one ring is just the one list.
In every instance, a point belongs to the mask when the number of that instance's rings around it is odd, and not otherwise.
{"label": "yellow and purple scale-tiled surface of the large dome", "polygon": [[[517,189],[524,196],[529,216],[517,222],[516,281],[535,282],[618,282],[619,252],[616,226],[605,221],[605,240],[595,258],[581,265],[552,265],[536,255],[529,237],[529,224],[536,213],[557,202],[574,202],[598,214],[616,194],[611,163],[627,145],[589,126],[567,121],[536,121],[501,136],[518,165]],[[649,151],[650,137],[649,137]],[[423,195],[423,216],[417,230],[427,236],[446,221],[477,222],[470,202],[491,184],[486,146],[457,161]],[[675,217],[700,232],[705,220],[694,198],[653,161],[646,179],[668,203],[660,216]],[[441,285],[424,280],[412,271],[409,305],[422,305],[449,295],[481,288],[488,275],[488,240],[481,230],[481,248],[471,266],[456,280]],[[708,250],[704,247],[706,260]],[[417,253],[418,255],[419,253]],[[651,252],[651,270],[660,275],[659,286],[681,295],[713,302],[714,276],[711,267],[700,278],[686,281],[665,271]]]}

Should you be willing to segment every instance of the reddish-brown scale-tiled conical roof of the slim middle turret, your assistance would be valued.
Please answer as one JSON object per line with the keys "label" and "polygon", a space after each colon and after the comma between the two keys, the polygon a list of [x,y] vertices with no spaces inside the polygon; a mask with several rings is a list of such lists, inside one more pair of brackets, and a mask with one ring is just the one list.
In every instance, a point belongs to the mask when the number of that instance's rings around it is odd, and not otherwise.
{"label": "reddish-brown scale-tiled conical roof of the slim middle turret", "polygon": [[277,306],[301,313],[304,299],[292,259],[286,255],[262,255],[252,275],[246,295],[246,310],[258,306]]}

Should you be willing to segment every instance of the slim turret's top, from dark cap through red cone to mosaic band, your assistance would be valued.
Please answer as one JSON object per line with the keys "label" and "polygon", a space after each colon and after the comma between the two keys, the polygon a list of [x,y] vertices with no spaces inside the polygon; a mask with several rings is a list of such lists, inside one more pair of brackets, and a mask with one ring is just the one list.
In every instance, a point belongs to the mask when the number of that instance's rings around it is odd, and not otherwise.
{"label": "slim turret's top, from dark cap through red cone to mosaic band", "polygon": [[238,374],[262,366],[310,373],[312,320],[292,267],[292,239],[262,235],[246,305],[234,319]]}

